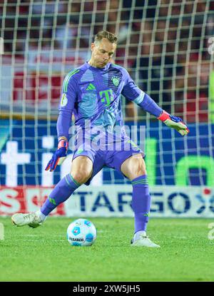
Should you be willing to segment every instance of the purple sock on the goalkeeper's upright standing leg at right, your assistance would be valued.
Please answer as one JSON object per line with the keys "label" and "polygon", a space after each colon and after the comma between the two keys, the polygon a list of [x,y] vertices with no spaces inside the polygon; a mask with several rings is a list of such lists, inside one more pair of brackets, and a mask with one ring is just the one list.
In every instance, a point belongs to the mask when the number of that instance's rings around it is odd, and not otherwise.
{"label": "purple sock on the goalkeeper's upright standing leg at right", "polygon": [[151,208],[151,196],[148,190],[147,175],[131,181],[133,185],[132,208],[135,215],[135,233],[146,231],[149,211]]}

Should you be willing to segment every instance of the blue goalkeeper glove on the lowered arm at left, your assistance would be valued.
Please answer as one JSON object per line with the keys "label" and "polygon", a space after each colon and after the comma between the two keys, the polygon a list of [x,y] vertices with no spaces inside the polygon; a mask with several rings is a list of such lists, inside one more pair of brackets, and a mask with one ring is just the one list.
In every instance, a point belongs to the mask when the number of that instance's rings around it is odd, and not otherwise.
{"label": "blue goalkeeper glove on the lowered arm at left", "polygon": [[54,155],[52,156],[51,160],[49,161],[48,165],[46,166],[45,170],[49,170],[52,172],[55,170],[56,165],[61,165],[63,161],[66,159],[68,150],[68,141],[67,140],[60,140],[58,141],[58,148]]}

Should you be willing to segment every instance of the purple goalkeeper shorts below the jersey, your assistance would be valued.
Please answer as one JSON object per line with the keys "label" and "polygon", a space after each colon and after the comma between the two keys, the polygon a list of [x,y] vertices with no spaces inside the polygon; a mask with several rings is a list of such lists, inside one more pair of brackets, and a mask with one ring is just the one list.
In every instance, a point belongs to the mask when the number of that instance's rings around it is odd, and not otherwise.
{"label": "purple goalkeeper shorts below the jersey", "polygon": [[[145,157],[143,151],[136,146],[130,138],[126,138],[125,142],[128,142],[128,150],[124,150],[124,146],[121,150],[94,150],[92,147],[84,148],[79,146],[73,153],[73,159],[78,156],[87,156],[93,163],[93,173],[91,178],[85,183],[89,185],[93,177],[104,167],[113,168],[119,173],[121,172],[122,163],[134,154],[141,153],[142,157]],[[125,143],[124,142],[124,143]],[[123,173],[122,173],[123,174]],[[126,175],[124,175],[126,177]]]}

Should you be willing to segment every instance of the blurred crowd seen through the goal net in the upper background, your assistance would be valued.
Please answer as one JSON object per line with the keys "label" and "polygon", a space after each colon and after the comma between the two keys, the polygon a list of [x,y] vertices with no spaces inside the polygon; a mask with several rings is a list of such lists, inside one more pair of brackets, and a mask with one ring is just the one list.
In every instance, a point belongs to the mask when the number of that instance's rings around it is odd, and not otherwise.
{"label": "blurred crowd seen through the goal net in the upper background", "polygon": [[[98,31],[118,35],[114,61],[165,111],[208,121],[214,1],[0,0],[5,53],[86,50]],[[126,116],[144,116],[126,102]]]}

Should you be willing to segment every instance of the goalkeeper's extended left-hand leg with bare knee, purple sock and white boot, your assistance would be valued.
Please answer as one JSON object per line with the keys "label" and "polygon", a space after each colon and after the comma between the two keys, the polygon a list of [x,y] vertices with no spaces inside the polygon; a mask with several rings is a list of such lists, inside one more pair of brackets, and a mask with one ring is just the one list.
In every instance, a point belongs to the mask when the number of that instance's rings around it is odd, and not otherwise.
{"label": "goalkeeper's extended left-hand leg with bare knee, purple sock and white boot", "polygon": [[51,213],[59,204],[65,202],[71,194],[91,177],[93,163],[87,156],[78,156],[72,162],[71,173],[60,180],[54,190],[52,190],[41,210],[36,213],[15,214],[11,220],[14,225],[30,225],[37,227],[45,220],[46,216]]}

